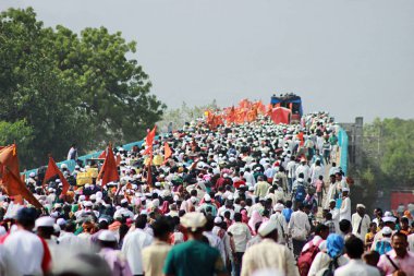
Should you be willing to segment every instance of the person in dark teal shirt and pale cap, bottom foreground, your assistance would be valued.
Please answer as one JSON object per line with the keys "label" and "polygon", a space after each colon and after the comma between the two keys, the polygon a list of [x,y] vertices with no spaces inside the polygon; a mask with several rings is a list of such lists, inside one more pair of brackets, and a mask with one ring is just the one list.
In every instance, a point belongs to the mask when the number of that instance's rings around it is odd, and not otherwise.
{"label": "person in dark teal shirt and pale cap, bottom foreground", "polygon": [[187,229],[188,241],[170,250],[163,265],[165,275],[227,275],[220,252],[203,241],[206,223],[206,217],[196,212],[187,213],[181,218],[182,226]]}

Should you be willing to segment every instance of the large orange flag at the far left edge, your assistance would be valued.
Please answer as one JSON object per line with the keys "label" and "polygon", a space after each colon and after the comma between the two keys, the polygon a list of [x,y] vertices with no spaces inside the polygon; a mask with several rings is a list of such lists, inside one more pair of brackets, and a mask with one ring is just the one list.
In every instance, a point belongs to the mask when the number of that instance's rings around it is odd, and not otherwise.
{"label": "large orange flag at the far left edge", "polygon": [[0,149],[0,179],[9,196],[22,195],[35,207],[42,208],[26,184],[20,178],[17,148],[11,145]]}

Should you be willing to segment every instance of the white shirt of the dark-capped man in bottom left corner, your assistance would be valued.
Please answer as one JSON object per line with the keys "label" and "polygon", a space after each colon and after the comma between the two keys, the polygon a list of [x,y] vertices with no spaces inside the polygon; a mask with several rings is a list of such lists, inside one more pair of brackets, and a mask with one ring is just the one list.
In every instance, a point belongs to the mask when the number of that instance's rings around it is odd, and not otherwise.
{"label": "white shirt of the dark-capped man in bottom left corner", "polygon": [[19,229],[5,239],[3,249],[8,266],[5,275],[44,275],[44,244],[36,235]]}

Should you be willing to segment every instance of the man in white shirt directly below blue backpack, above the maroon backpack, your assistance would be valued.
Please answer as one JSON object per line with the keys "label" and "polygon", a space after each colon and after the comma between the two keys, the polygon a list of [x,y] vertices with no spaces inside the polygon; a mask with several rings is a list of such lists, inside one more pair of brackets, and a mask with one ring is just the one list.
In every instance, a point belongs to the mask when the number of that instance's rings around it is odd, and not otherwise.
{"label": "man in white shirt directly below blue backpack, above the maroon backpack", "polygon": [[303,247],[306,244],[306,237],[310,231],[309,219],[303,212],[303,203],[297,203],[297,211],[292,213],[289,221],[289,233],[292,236],[293,254],[299,256]]}

